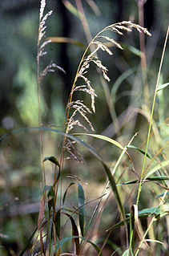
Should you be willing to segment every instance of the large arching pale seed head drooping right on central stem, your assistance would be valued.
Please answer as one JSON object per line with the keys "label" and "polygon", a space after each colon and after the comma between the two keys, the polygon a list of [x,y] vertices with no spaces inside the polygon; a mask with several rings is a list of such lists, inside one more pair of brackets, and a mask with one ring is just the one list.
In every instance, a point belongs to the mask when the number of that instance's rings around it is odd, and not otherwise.
{"label": "large arching pale seed head drooping right on central stem", "polygon": [[[89,46],[87,47],[84,55],[82,56],[81,62],[78,67],[77,74],[75,75],[74,84],[70,93],[70,100],[67,104],[67,120],[66,120],[66,132],[70,132],[75,126],[82,127],[84,130],[87,130],[85,128],[85,125],[81,124],[78,121],[78,118],[75,116],[80,114],[84,120],[90,125],[91,130],[94,131],[94,128],[90,122],[90,120],[87,117],[87,114],[91,114],[91,112],[95,113],[95,97],[97,96],[95,93],[95,89],[91,87],[91,81],[87,78],[87,72],[89,70],[89,67],[91,63],[95,63],[97,67],[103,71],[103,77],[108,82],[110,82],[110,78],[107,75],[107,67],[103,65],[101,60],[99,59],[97,52],[99,50],[106,51],[108,55],[112,55],[111,50],[105,45],[105,43],[101,42],[100,39],[106,40],[108,42],[111,42],[115,47],[118,47],[119,49],[123,50],[123,47],[119,43],[115,41],[115,39],[111,39],[108,36],[102,35],[107,30],[111,30],[115,33],[118,33],[119,35],[123,35],[123,31],[131,32],[132,28],[135,28],[139,31],[139,33],[145,33],[146,35],[151,35],[148,30],[142,26],[139,26],[135,23],[132,23],[131,21],[123,21],[118,22],[115,24],[111,24],[110,26],[105,27],[103,30],[99,32],[98,35],[95,36],[95,38],[91,41]],[[95,50],[91,52],[91,54],[87,55],[87,50],[89,47],[91,47],[91,44],[95,45]],[[85,84],[79,84],[79,79],[83,80]],[[83,101],[77,100],[76,102],[71,102],[73,93],[75,91],[84,91],[87,94],[91,95],[91,110],[87,108],[87,106],[83,103]],[[71,116],[69,117],[70,108],[74,108],[74,111],[71,113]]]}

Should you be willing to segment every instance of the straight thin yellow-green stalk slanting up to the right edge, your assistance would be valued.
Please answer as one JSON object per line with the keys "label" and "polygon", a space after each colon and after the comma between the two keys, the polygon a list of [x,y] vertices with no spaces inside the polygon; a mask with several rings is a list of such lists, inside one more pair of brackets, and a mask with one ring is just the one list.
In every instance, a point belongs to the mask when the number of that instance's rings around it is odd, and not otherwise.
{"label": "straight thin yellow-green stalk slanting up to the right edge", "polygon": [[160,76],[161,68],[162,68],[162,64],[163,64],[163,56],[164,56],[166,46],[167,46],[168,33],[169,33],[169,26],[167,28],[167,35],[166,35],[166,39],[165,39],[164,46],[163,46],[163,53],[162,53],[161,61],[160,61],[160,64],[159,64],[159,73],[158,73],[157,82],[156,82],[156,85],[155,85],[155,94],[154,94],[153,104],[152,104],[152,108],[151,108],[151,120],[150,120],[150,124],[149,124],[149,128],[148,128],[147,144],[146,144],[146,150],[145,150],[145,155],[144,155],[144,159],[143,159],[143,168],[142,168],[142,172],[141,172],[141,178],[140,178],[140,181],[139,181],[139,191],[138,191],[138,195],[137,195],[136,205],[139,204],[139,196],[140,196],[141,188],[142,188],[142,185],[143,185],[143,173],[144,173],[144,169],[145,169],[145,165],[146,165],[147,150],[148,150],[149,140],[150,140],[150,136],[151,136],[151,124],[152,124],[153,114],[154,114],[154,109],[155,109],[155,98],[156,98],[156,95],[157,95],[157,87],[159,85],[159,76]]}

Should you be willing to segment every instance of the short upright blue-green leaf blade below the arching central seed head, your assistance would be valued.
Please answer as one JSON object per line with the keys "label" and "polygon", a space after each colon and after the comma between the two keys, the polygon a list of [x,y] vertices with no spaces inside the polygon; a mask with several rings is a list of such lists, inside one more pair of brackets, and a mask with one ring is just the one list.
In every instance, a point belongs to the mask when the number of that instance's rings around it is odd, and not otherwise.
{"label": "short upright blue-green leaf blade below the arching central seed head", "polygon": [[82,185],[78,184],[78,208],[79,208],[79,225],[82,237],[84,235],[84,214],[85,214],[85,194]]}

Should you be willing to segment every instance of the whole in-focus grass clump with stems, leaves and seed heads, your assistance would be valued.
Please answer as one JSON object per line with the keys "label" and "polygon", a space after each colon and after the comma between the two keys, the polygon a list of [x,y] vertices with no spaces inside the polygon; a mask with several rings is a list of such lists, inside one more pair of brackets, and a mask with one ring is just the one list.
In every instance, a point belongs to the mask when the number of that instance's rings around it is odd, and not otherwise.
{"label": "whole in-focus grass clump with stems, leaves and seed heads", "polygon": [[[54,72],[56,69],[66,75],[62,67],[53,61],[42,68],[42,58],[47,54],[45,48],[51,43],[51,39],[45,39],[45,34],[46,20],[52,11],[45,14],[45,7],[46,1],[42,0],[39,12],[37,55],[38,125],[11,132],[22,130],[38,132],[42,169],[42,194],[37,226],[34,227],[33,233],[19,255],[155,255],[155,250],[158,251],[158,254],[163,252],[163,255],[167,255],[165,253],[167,252],[168,228],[163,226],[168,223],[167,215],[169,213],[167,208],[167,181],[169,180],[167,165],[169,161],[165,159],[164,154],[161,155],[161,152],[163,152],[163,148],[167,147],[168,140],[165,145],[157,143],[156,152],[149,152],[149,145],[151,138],[155,136],[155,129],[160,132],[159,128],[162,125],[155,124],[154,112],[155,99],[159,91],[163,91],[168,85],[168,83],[159,84],[168,30],[152,107],[150,113],[147,114],[150,114],[147,118],[149,120],[147,137],[142,144],[136,146],[135,138],[138,134],[134,132],[129,142],[122,144],[121,138],[118,136],[114,140],[110,136],[95,133],[97,128],[92,122],[91,115],[97,115],[95,101],[98,95],[95,89],[95,80],[90,78],[91,67],[96,67],[99,75],[101,74],[106,82],[110,82],[108,69],[99,58],[99,53],[113,55],[111,47],[123,50],[122,45],[113,38],[114,35],[123,36],[123,33],[132,32],[134,29],[148,36],[151,34],[143,26],[131,21],[117,22],[103,28],[88,44],[78,64],[66,104],[62,129],[44,127],[41,107],[43,79],[48,72]],[[109,97],[111,102],[111,93]],[[112,108],[114,108],[112,102],[108,108],[112,113]],[[143,109],[139,111],[143,112]],[[111,117],[113,119],[113,115]],[[102,121],[102,117],[100,121]],[[168,125],[168,120],[165,120],[164,123]],[[43,136],[50,132],[59,136],[60,141],[57,145],[57,152],[46,156],[44,153],[46,144]],[[2,136],[1,140],[8,135]],[[87,143],[86,140],[89,138],[96,141],[95,147]],[[116,148],[118,157],[115,161],[107,161],[106,157],[100,156],[101,154],[98,152],[101,150],[96,148],[99,141],[108,142],[111,148]],[[153,148],[153,146],[151,147]],[[134,154],[131,153],[132,150],[135,151]],[[89,153],[87,155],[89,163],[86,164],[85,154],[87,152]],[[138,154],[140,154],[141,161],[139,161],[139,167],[137,165],[137,169],[135,169],[135,156]],[[108,155],[107,152],[105,155]],[[94,187],[91,187],[92,184],[89,185],[90,192],[87,193],[85,181],[74,174],[65,172],[69,165],[67,161],[73,168],[75,166],[75,168],[83,169],[81,166],[88,165],[90,169],[91,158],[96,168],[99,166],[99,170],[103,169],[105,177],[107,177],[101,191],[99,190],[99,196],[95,198],[93,196],[95,196],[94,191],[97,185]],[[50,185],[46,182],[48,175],[46,161],[50,162],[54,169]],[[94,165],[91,165],[91,169]],[[71,182],[67,183],[69,179]],[[92,177],[93,180],[95,180],[95,176]],[[70,189],[73,187],[75,196],[71,198]],[[143,208],[141,201],[145,199],[143,197],[147,197],[147,194],[152,194],[152,204],[147,198],[147,206]],[[89,205],[92,205],[92,210],[88,208]],[[107,208],[111,212],[111,217],[107,217],[104,213]],[[102,225],[104,230],[100,230]]]}

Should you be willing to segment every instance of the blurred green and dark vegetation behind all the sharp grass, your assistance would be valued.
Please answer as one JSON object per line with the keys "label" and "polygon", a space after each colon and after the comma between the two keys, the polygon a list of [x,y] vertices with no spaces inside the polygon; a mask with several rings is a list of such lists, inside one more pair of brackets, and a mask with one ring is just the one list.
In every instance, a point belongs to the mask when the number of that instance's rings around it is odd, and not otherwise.
{"label": "blurred green and dark vegetation behind all the sharp grass", "polygon": [[[139,1],[141,4],[143,1]],[[102,134],[119,141],[126,146],[135,132],[132,144],[145,151],[147,132],[150,124],[151,106],[155,92],[155,83],[159,71],[159,63],[163,51],[163,43],[167,32],[167,1],[144,1],[144,20],[141,18],[141,6],[136,1],[46,1],[47,13],[53,14],[46,20],[46,38],[52,43],[46,46],[47,55],[42,57],[40,68],[43,69],[53,59],[66,75],[59,70],[48,73],[41,83],[42,126],[64,131],[65,108],[74,75],[82,54],[91,39],[103,27],[123,20],[139,23],[147,27],[151,37],[137,33],[125,32],[123,36],[113,35],[121,43],[124,51],[111,47],[113,56],[99,52],[103,65],[107,67],[110,83],[98,74],[95,66],[91,66],[89,79],[95,93],[96,113],[89,117],[96,134]],[[71,6],[70,3],[74,6]],[[39,1],[2,0],[0,3],[0,133],[4,134],[17,128],[38,127],[38,94],[37,94],[37,40]],[[83,13],[84,12],[84,13]],[[81,13],[81,14],[79,14]],[[145,41],[144,41],[145,40]],[[140,58],[140,47],[145,52]],[[146,59],[146,63],[145,63]],[[163,67],[159,83],[168,82],[169,67],[168,50],[165,51]],[[84,97],[84,95],[81,95]],[[75,95],[75,100],[78,96]],[[152,170],[152,176],[166,177],[168,170],[168,87],[159,91],[155,100],[155,112],[152,122],[151,140],[148,148],[146,171]],[[89,96],[83,98],[90,106]],[[77,130],[78,131],[78,130]],[[54,132],[42,132],[44,157],[56,156],[60,159],[61,136]],[[121,149],[104,140],[81,136],[87,144],[91,144],[107,165],[115,167]],[[42,197],[42,171],[38,131],[21,130],[6,136],[0,148],[0,254],[4,256],[18,255],[26,246],[26,242],[38,223],[38,212]],[[90,221],[99,197],[107,183],[103,166],[82,145],[78,151],[85,163],[73,160],[64,162],[62,173],[62,191],[70,182],[78,182],[85,192],[85,223]],[[115,181],[127,182],[139,179],[143,167],[144,156],[135,148],[129,148],[135,172],[128,160],[123,156],[115,172]],[[79,156],[81,157],[81,156]],[[166,164],[163,165],[163,162]],[[54,164],[45,163],[46,185],[54,184]],[[156,172],[153,172],[156,170]],[[155,169],[156,168],[156,169]],[[160,169],[160,170],[159,170]],[[155,183],[156,182],[156,183]],[[135,205],[138,184],[122,185],[119,189],[126,213],[130,213],[131,205]],[[78,208],[79,185],[72,185],[66,195],[66,207]],[[139,210],[158,206],[160,198],[167,189],[167,181],[152,181],[143,185],[139,198]],[[159,195],[162,195],[159,197]],[[150,255],[167,255],[168,219],[167,198],[160,209],[159,216],[165,215],[148,232],[147,238],[163,242],[151,243]],[[97,200],[96,200],[97,199]],[[103,209],[102,209],[103,206]],[[93,222],[95,228],[90,234],[92,241],[103,246],[107,231],[120,221],[115,196],[103,197],[99,205],[99,217]],[[165,214],[164,214],[165,213]],[[148,210],[146,212],[148,214]],[[153,214],[155,216],[157,213]],[[160,216],[160,217],[161,217]],[[74,217],[78,223],[78,216]],[[71,223],[66,217],[62,219],[64,236],[71,235]],[[147,230],[151,217],[143,218],[139,226],[140,232]],[[66,223],[66,225],[65,225]],[[65,225],[65,226],[64,226]],[[63,231],[62,231],[63,232]],[[122,255],[125,251],[125,231],[112,230],[103,255]],[[31,243],[30,243],[31,245]],[[39,245],[39,243],[38,243]],[[39,248],[39,246],[37,248]],[[34,250],[35,251],[35,250]],[[38,251],[38,249],[37,249]],[[63,251],[70,251],[67,242]],[[34,252],[35,254],[35,252]],[[86,255],[95,255],[93,250]],[[26,255],[26,253],[25,253]]]}

